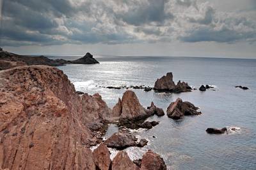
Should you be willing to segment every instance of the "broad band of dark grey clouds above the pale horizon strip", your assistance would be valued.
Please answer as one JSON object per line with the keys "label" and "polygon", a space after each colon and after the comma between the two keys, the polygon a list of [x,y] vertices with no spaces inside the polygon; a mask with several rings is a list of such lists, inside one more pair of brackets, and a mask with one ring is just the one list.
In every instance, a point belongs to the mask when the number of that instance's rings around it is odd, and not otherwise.
{"label": "broad band of dark grey clouds above the pale horizon strip", "polygon": [[1,45],[6,46],[255,42],[254,35],[255,20],[248,15],[218,12],[202,0],[3,1]]}

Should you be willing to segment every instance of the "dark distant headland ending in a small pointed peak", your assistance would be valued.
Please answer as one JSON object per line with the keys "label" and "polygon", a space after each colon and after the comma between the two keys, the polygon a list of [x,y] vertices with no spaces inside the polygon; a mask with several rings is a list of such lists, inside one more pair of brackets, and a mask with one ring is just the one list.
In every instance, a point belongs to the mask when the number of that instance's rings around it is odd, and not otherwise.
{"label": "dark distant headland ending in a small pointed peak", "polygon": [[92,54],[86,53],[83,58],[76,59],[74,61],[68,61],[65,59],[49,59],[45,56],[21,56],[7,51],[0,51],[0,60],[6,61],[22,61],[26,65],[48,65],[48,66],[61,66],[67,64],[96,64],[99,63],[92,57]]}

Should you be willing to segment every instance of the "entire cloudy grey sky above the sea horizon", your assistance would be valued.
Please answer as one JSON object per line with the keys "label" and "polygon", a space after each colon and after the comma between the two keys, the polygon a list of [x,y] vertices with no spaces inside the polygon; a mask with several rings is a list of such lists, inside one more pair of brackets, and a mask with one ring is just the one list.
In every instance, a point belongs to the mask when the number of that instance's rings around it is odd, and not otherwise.
{"label": "entire cloudy grey sky above the sea horizon", "polygon": [[256,0],[0,0],[19,54],[256,58]]}

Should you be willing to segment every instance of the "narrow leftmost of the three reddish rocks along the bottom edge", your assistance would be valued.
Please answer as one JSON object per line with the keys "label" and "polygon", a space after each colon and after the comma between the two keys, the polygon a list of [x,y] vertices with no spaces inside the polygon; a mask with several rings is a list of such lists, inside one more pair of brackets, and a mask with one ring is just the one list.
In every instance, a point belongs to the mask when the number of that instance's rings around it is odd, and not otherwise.
{"label": "narrow leftmost of the three reddish rocks along the bottom edge", "polygon": [[109,170],[111,167],[110,153],[105,144],[100,144],[98,148],[93,151],[93,160],[96,169]]}

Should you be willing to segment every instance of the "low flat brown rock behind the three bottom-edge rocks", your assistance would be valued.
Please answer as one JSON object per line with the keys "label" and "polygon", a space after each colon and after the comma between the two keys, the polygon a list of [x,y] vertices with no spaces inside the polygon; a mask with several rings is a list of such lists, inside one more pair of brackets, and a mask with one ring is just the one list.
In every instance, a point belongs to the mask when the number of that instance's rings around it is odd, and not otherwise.
{"label": "low flat brown rock behind the three bottom-edge rocks", "polygon": [[127,132],[116,132],[111,135],[104,144],[106,144],[109,148],[116,148],[117,150],[123,150],[130,146],[136,146],[136,141],[138,139]]}

